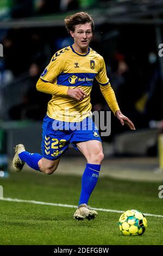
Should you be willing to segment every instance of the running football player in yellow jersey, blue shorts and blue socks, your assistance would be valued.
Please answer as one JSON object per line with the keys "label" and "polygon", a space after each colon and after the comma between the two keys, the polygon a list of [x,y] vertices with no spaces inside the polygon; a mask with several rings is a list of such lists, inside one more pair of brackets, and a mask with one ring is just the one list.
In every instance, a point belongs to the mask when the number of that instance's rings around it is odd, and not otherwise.
{"label": "running football player in yellow jersey, blue shorts and blue socks", "polygon": [[89,47],[95,28],[92,17],[87,13],[76,13],[66,17],[65,26],[74,44],[54,54],[36,84],[40,92],[52,94],[42,125],[42,155],[29,153],[24,145],[18,144],[13,167],[20,172],[27,163],[35,170],[52,174],[58,167],[60,157],[72,143],[87,160],[74,218],[90,220],[97,216],[97,212],[91,210],[87,203],[97,184],[104,158],[101,138],[92,121],[90,93],[94,78],[121,124],[127,124],[131,130],[135,127],[118,107],[103,57]]}

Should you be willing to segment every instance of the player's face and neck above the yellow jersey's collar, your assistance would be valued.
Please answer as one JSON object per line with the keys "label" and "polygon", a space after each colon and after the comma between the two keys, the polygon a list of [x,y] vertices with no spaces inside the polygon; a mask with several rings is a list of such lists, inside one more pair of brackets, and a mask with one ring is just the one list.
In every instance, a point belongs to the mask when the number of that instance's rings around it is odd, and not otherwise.
{"label": "player's face and neck above the yellow jersey's collar", "polygon": [[90,23],[75,26],[74,32],[70,31],[71,36],[74,39],[74,45],[76,50],[84,50],[89,47],[89,43],[92,38],[92,28]]}

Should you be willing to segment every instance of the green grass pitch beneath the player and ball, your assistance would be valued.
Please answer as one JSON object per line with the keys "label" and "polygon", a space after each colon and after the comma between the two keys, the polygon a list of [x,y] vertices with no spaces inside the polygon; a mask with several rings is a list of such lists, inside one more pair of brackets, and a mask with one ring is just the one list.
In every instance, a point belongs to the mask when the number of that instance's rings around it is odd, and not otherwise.
{"label": "green grass pitch beneath the player and ball", "polygon": [[[1,179],[4,197],[77,205],[79,176],[11,173]],[[159,183],[99,178],[89,204],[94,208],[162,215]],[[147,216],[142,236],[123,236],[118,228],[120,213],[98,211],[95,220],[73,219],[75,209],[32,203],[0,201],[1,245],[163,245],[163,218]]]}

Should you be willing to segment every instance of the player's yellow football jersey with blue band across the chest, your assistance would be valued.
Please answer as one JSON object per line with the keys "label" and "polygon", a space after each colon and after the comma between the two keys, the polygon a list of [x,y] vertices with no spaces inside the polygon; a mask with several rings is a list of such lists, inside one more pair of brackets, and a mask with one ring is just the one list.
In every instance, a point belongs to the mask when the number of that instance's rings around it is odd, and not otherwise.
{"label": "player's yellow football jersey with blue band across the chest", "polygon": [[[62,48],[55,53],[37,82],[37,90],[52,94],[52,99],[48,102],[48,117],[60,121],[82,121],[91,115],[90,93],[95,78],[103,87],[101,90],[108,102],[108,89],[111,86],[101,55],[90,47],[86,54],[81,54],[72,46]],[[68,88],[77,87],[87,94],[87,97],[80,102],[67,96]],[[112,93],[114,94],[113,91],[109,93],[111,98],[108,104],[113,104],[112,111],[115,113],[119,107]]]}

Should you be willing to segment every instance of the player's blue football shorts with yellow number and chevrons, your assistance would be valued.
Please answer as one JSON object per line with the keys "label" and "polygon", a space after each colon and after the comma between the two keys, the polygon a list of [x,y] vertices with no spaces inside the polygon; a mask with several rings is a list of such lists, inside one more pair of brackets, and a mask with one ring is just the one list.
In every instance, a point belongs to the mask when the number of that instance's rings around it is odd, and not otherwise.
{"label": "player's blue football shorts with yellow number and chevrons", "polygon": [[101,142],[98,129],[91,117],[76,123],[58,121],[49,118],[48,115],[43,119],[41,151],[42,156],[48,160],[58,159],[68,150],[70,143],[78,149],[76,143],[93,139]]}

